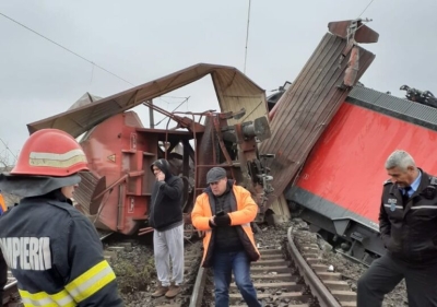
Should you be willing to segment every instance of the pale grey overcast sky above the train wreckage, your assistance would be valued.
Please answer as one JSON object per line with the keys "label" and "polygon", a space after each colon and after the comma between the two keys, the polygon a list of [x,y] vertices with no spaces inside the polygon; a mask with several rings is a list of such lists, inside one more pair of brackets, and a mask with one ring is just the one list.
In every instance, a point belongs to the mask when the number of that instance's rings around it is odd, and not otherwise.
{"label": "pale grey overcast sky above the train wreckage", "polygon": [[[293,81],[331,21],[356,19],[370,0],[252,0],[247,75],[269,92]],[[10,0],[0,13],[139,85],[198,62],[244,70],[249,0]],[[363,47],[376,59],[361,82],[378,91],[403,84],[437,95],[437,0],[374,0],[362,17],[379,33]],[[16,154],[26,123],[67,110],[85,92],[132,87],[0,15],[0,139]],[[217,108],[209,79],[168,95],[179,110]],[[168,96],[167,95],[167,96]],[[156,99],[173,109],[184,98]],[[144,126],[145,107],[138,107]],[[160,117],[156,117],[160,120]],[[0,142],[0,156],[7,153]]]}

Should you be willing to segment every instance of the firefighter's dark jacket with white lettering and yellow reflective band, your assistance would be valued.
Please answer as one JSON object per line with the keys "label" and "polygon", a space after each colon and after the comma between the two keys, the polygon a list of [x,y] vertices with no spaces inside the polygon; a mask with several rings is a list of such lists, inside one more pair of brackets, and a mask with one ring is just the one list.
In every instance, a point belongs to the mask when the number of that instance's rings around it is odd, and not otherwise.
{"label": "firefighter's dark jacket with white lettering and yellow reflective band", "polygon": [[94,225],[66,198],[24,198],[0,219],[0,247],[25,306],[123,306]]}

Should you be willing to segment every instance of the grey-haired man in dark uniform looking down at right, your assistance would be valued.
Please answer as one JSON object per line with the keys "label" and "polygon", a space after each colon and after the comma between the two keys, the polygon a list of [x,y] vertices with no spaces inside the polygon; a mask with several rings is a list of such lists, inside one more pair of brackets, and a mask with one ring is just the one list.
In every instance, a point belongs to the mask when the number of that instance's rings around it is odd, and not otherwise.
{"label": "grey-haired man in dark uniform looking down at right", "polygon": [[387,253],[358,280],[357,306],[381,306],[405,279],[409,306],[437,306],[437,178],[405,151],[386,162],[379,229]]}

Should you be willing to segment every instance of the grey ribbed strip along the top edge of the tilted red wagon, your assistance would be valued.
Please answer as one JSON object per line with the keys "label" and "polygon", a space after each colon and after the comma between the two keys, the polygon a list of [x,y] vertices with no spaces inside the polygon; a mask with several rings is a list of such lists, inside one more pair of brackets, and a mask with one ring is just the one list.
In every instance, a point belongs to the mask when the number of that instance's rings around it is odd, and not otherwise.
{"label": "grey ribbed strip along the top edge of the tilted red wagon", "polygon": [[355,86],[347,101],[382,111],[387,115],[437,130],[437,109],[408,99],[391,96],[371,88]]}

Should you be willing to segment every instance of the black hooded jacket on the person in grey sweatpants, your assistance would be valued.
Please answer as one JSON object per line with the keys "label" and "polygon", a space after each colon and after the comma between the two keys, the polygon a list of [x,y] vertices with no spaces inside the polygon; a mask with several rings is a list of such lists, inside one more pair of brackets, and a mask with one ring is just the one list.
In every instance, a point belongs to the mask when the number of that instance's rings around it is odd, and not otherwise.
{"label": "black hooded jacket on the person in grey sweatpants", "polygon": [[184,223],[184,182],[180,177],[172,175],[170,166],[165,158],[155,161],[151,165],[152,172],[153,165],[165,174],[165,180],[156,181],[153,186],[149,224],[156,231],[164,232]]}

